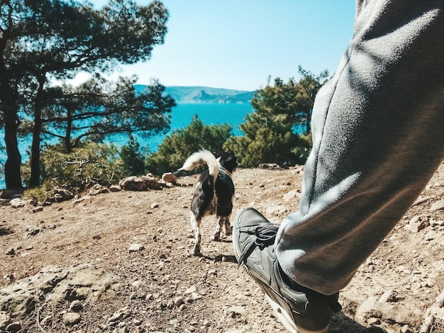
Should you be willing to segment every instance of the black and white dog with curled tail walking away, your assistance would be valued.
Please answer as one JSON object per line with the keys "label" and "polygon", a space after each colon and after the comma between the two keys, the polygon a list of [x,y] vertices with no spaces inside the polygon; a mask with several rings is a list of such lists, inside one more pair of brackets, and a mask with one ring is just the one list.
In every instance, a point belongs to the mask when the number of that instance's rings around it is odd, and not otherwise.
{"label": "black and white dog with curled tail walking away", "polygon": [[208,150],[195,152],[179,170],[193,170],[206,164],[206,169],[199,176],[191,205],[190,221],[194,230],[194,249],[192,254],[201,255],[201,220],[206,215],[219,217],[213,240],[221,240],[222,227],[225,235],[231,235],[230,216],[233,210],[234,185],[231,174],[238,166],[233,152],[223,152],[216,157]]}

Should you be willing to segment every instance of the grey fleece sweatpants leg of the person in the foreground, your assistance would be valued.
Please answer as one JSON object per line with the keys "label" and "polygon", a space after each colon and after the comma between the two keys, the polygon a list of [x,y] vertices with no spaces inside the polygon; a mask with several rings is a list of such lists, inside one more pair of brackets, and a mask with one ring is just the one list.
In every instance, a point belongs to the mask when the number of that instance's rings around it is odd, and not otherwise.
{"label": "grey fleece sweatpants leg of the person in the foreground", "polygon": [[[339,18],[338,18],[339,19]],[[357,1],[355,32],[316,96],[299,212],[275,248],[330,295],[393,229],[444,158],[444,1]]]}

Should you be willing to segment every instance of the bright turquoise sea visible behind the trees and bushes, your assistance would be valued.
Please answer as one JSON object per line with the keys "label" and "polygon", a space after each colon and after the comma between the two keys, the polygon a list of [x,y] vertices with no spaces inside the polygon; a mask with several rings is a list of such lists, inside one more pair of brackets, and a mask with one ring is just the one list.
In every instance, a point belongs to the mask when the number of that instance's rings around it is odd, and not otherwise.
{"label": "bright turquoise sea visible behind the trees and bushes", "polygon": [[[242,135],[239,130],[240,123],[244,122],[245,115],[251,113],[252,106],[250,103],[238,103],[238,104],[223,104],[223,103],[184,103],[177,104],[171,111],[171,124],[170,130],[163,135],[155,135],[152,137],[141,137],[140,135],[134,135],[141,148],[148,146],[150,152],[157,151],[157,148],[162,143],[167,135],[172,134],[174,130],[179,130],[187,127],[191,123],[194,115],[204,122],[205,125],[224,124],[233,126],[233,135]],[[0,130],[0,140],[2,144],[4,142],[4,130]],[[57,142],[57,140],[55,140]],[[55,143],[50,142],[50,143]],[[113,135],[105,142],[112,142],[117,147],[128,144],[128,135]],[[22,162],[26,162],[29,159],[29,151],[31,145],[31,138],[26,137],[18,140],[18,149],[22,156]],[[6,162],[6,151],[0,150],[0,162],[4,164]],[[0,188],[5,188],[4,175],[0,175]]]}

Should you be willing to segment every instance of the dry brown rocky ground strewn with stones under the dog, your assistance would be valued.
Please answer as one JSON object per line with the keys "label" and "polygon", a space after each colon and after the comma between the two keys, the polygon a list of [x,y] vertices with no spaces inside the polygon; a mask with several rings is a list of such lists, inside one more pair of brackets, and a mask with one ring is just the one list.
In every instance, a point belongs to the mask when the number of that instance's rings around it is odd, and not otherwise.
{"label": "dry brown rocky ground strewn with stones under the dog", "polygon": [[[303,168],[236,171],[236,215],[297,210]],[[231,237],[190,256],[196,176],[157,191],[0,205],[0,332],[286,332]],[[330,332],[444,332],[444,166],[340,294]],[[367,328],[370,327],[370,328]],[[377,328],[379,327],[379,329]]]}

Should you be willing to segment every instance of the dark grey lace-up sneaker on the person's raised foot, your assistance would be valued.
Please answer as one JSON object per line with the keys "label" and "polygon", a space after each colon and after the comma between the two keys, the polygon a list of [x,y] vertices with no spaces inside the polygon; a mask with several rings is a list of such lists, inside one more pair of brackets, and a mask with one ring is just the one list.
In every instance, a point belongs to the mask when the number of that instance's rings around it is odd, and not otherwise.
{"label": "dark grey lace-up sneaker on the person's raised foot", "polygon": [[274,253],[279,225],[248,208],[233,225],[235,256],[255,278],[277,318],[289,332],[326,333],[333,312],[341,310],[338,293],[322,295],[284,275]]}

